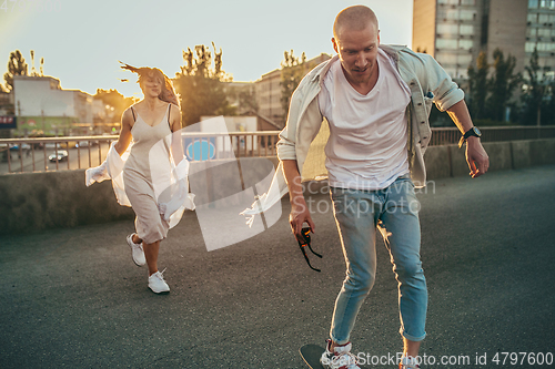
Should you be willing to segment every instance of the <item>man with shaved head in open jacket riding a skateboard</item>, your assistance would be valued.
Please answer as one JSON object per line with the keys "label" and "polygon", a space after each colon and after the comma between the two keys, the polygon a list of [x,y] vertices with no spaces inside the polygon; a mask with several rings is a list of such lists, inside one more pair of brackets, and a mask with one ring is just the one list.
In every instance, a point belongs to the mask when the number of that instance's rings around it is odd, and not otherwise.
{"label": "man with shaved head in open jacket riding a skateboard", "polygon": [[322,363],[359,368],[350,334],[375,277],[375,232],[384,236],[398,281],[401,368],[417,368],[425,337],[427,289],[420,260],[420,203],[425,184],[423,153],[430,142],[431,103],[447,111],[464,134],[471,176],[487,172],[488,157],[473,126],[464,93],[437,62],[402,47],[380,45],[374,12],[364,6],[341,11],[333,24],[336,57],[312,70],[292,95],[280,134],[280,157],[291,199],[290,224],[301,236],[314,230],[301,176],[311,142],[325,117],[325,146],[334,216],[346,263]]}

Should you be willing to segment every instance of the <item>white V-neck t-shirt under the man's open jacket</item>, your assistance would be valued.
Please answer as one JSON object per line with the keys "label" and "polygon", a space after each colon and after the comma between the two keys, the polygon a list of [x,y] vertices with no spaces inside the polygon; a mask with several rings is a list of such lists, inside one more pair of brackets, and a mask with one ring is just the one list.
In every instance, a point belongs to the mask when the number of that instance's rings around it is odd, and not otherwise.
{"label": "white V-neck t-shirt under the man's open jacket", "polygon": [[380,49],[377,65],[377,82],[366,95],[349,83],[339,60],[324,78],[319,105],[330,123],[325,166],[333,187],[382,189],[408,173],[411,90]]}

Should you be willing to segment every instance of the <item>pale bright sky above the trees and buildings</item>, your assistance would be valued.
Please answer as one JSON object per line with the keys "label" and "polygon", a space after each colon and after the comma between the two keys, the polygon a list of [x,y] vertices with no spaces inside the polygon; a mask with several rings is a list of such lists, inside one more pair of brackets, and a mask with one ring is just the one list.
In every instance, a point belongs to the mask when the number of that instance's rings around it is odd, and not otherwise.
{"label": "pale bright sky above the trees and buildings", "polygon": [[[182,51],[214,42],[234,81],[255,81],[280,68],[285,50],[311,59],[331,44],[335,16],[353,4],[372,8],[382,43],[411,45],[413,0],[0,0],[0,73],[19,49],[29,69],[44,58],[44,75],[62,89],[94,94],[117,89],[140,98],[134,66],[157,66],[173,78]],[[122,79],[130,82],[123,83]]]}

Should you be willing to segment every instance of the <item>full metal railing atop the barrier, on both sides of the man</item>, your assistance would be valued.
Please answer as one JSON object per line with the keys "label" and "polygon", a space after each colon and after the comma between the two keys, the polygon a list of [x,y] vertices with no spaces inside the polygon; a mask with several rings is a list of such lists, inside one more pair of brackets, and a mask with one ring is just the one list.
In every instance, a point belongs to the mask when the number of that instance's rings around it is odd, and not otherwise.
{"label": "full metal railing atop the barrier, on both sides of the man", "polygon": [[[483,142],[555,137],[555,126],[481,127],[481,131]],[[430,145],[456,144],[461,139],[461,132],[456,127],[434,127],[432,132]],[[204,161],[226,157],[275,156],[279,133],[280,131],[186,132],[182,134],[182,137],[188,158],[190,161]],[[118,140],[117,135],[3,139],[0,140],[0,174],[53,172],[98,166],[104,161],[110,144],[115,140]],[[56,157],[61,152],[67,153],[67,156],[61,155],[57,160]],[[49,156],[52,156],[52,160]]]}

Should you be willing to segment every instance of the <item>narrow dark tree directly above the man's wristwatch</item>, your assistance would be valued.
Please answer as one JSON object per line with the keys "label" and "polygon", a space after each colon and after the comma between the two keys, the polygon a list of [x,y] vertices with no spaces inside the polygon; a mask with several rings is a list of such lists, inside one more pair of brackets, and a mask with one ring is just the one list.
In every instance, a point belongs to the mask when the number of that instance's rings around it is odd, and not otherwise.
{"label": "narrow dark tree directly above the man's wristwatch", "polygon": [[476,69],[468,66],[470,101],[468,110],[474,119],[482,119],[485,114],[487,96],[487,54],[482,51],[476,59]]}

